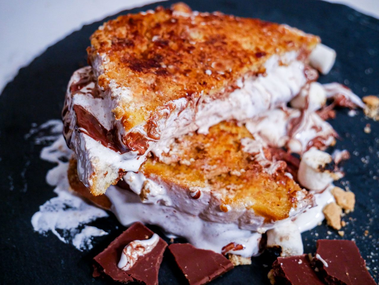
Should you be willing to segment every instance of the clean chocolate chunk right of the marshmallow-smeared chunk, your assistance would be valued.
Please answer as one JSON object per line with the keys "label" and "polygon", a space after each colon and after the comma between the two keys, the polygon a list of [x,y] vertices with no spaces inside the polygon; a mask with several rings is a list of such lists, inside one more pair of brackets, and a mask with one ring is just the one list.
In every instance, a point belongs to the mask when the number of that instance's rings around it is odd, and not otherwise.
{"label": "clean chocolate chunk right of the marshmallow-smeared chunk", "polygon": [[170,244],[168,248],[190,285],[206,284],[233,269],[227,258],[211,250],[197,249],[189,243]]}

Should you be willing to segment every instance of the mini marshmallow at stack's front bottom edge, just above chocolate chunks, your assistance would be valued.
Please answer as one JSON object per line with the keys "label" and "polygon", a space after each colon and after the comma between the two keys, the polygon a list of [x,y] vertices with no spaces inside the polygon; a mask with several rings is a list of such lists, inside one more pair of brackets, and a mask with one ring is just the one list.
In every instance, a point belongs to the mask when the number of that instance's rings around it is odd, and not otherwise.
{"label": "mini marshmallow at stack's front bottom edge, just above chocolate chunks", "polygon": [[303,254],[303,242],[298,226],[290,220],[267,231],[267,247],[281,247],[280,256]]}

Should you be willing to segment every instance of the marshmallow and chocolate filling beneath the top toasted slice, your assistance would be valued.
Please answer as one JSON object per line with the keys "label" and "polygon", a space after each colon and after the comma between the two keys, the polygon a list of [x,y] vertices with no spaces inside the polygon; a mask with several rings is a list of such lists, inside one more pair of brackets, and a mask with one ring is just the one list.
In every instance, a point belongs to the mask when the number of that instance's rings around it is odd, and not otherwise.
{"label": "marshmallow and chocolate filling beneath the top toasted slice", "polygon": [[[64,136],[77,155],[80,180],[89,189],[96,184],[105,191],[109,181],[116,183],[125,172],[138,171],[149,151],[166,151],[170,139],[196,130],[206,133],[220,121],[246,120],[287,104],[309,80],[305,70],[310,69],[297,60],[287,66],[279,66],[278,59],[275,61],[276,64],[266,68],[267,76],[238,80],[236,89],[224,98],[204,100],[196,105],[189,104],[186,98],[169,102],[161,110],[160,119],[152,123],[160,130],[159,140],[146,134],[149,126],[137,126],[133,128],[134,150],[123,144],[125,130],[115,120],[113,100],[97,86],[92,68],[79,69],[67,88],[63,120]],[[140,148],[136,146],[137,141]],[[143,154],[139,152],[142,149]],[[92,193],[97,195],[102,191]]]}

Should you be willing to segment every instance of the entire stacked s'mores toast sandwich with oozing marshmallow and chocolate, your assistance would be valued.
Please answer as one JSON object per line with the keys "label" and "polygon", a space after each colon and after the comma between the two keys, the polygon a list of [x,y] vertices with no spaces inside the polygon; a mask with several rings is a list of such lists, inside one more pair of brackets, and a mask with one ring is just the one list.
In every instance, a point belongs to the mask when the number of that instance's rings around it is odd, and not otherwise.
{"label": "entire stacked s'mores toast sandwich with oozing marshmallow and chocolate", "polygon": [[178,3],[104,23],[87,52],[63,109],[70,186],[123,224],[250,257],[316,205],[298,169],[334,144],[340,94],[316,82],[335,57],[317,36]]}

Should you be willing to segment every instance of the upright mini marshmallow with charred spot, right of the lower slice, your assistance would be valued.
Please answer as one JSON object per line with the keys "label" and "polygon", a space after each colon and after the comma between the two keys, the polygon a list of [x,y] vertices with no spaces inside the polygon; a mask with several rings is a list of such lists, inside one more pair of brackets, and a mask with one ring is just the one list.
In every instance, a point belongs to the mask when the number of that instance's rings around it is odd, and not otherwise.
{"label": "upright mini marshmallow with charred spot, right of the lower slice", "polygon": [[333,180],[342,177],[341,173],[333,173],[325,169],[327,164],[332,163],[330,154],[311,148],[306,151],[300,161],[298,180],[302,186],[314,191],[324,190]]}

